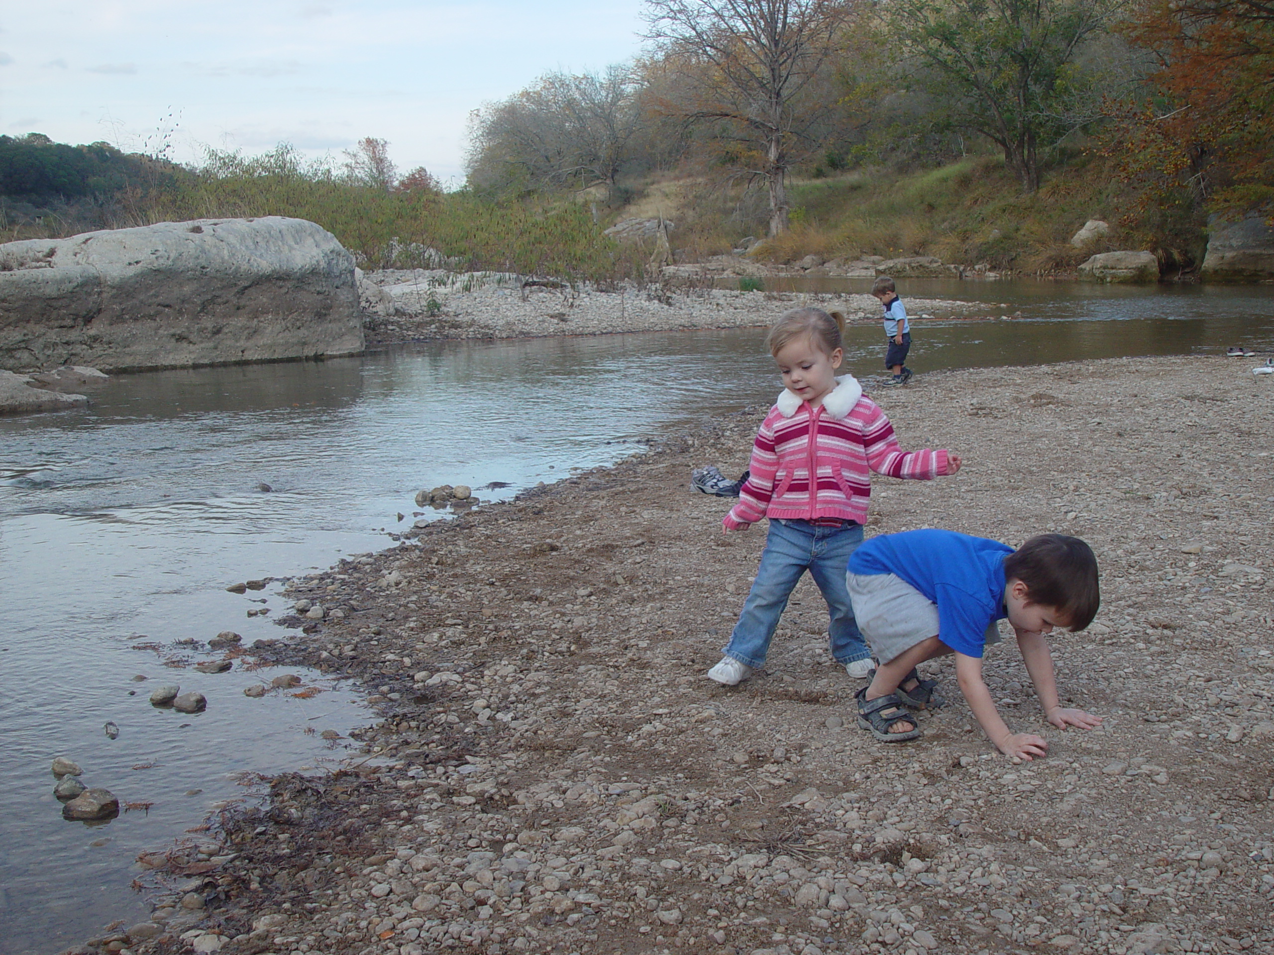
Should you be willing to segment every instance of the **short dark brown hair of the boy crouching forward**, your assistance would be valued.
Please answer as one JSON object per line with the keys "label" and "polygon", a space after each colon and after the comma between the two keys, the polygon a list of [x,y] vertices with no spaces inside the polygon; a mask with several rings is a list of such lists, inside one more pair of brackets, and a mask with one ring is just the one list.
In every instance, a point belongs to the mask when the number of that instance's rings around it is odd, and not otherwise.
{"label": "short dark brown hair of the boy crouching forward", "polygon": [[1071,630],[1083,630],[1102,604],[1097,556],[1079,537],[1041,534],[1004,558],[1004,576],[1027,586],[1032,604],[1054,607]]}

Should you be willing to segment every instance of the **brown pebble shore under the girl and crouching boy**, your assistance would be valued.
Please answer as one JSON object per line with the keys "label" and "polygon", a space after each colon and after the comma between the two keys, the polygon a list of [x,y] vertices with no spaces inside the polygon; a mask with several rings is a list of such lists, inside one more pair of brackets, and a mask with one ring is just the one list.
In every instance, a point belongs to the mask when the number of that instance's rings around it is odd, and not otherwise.
{"label": "brown pebble shore under the girl and crouching boy", "polygon": [[727,502],[693,493],[689,472],[740,471],[753,409],[293,581],[329,619],[293,618],[303,630],[256,652],[364,681],[383,719],[359,737],[363,761],[275,779],[264,810],[217,821],[219,867],[171,861],[186,894],[94,941],[1274,950],[1274,382],[1252,364],[935,373],[875,396],[905,447],[966,463],[877,479],[869,534],[1057,530],[1097,551],[1097,621],[1052,643],[1063,699],[1101,730],[1047,726],[1012,639],[987,654],[1001,713],[1049,740],[1046,759],[996,754],[947,662],[926,665],[950,702],[921,740],[860,731],[859,684],[832,665],[808,577],[766,671],[734,689],[705,679],[764,530],[724,536]]}

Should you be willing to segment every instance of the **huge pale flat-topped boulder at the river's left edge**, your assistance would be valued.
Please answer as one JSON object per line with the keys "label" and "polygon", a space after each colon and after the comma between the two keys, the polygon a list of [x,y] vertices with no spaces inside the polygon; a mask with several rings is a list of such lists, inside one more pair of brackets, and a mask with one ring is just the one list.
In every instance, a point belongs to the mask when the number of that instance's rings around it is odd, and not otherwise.
{"label": "huge pale flat-topped boulder at the river's left edge", "polygon": [[362,349],[354,258],[304,219],[0,244],[0,368],[175,368]]}

